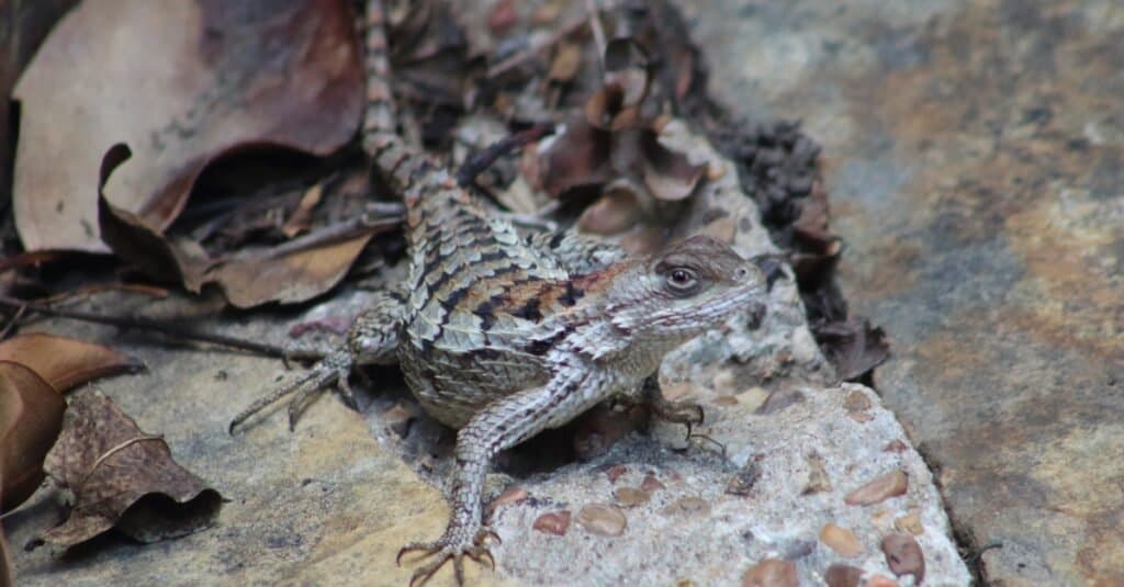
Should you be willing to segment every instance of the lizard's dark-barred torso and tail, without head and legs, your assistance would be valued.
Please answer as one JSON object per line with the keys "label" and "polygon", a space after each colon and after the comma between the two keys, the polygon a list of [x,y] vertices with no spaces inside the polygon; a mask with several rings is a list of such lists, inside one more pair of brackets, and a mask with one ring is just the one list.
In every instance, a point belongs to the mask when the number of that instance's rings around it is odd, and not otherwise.
{"label": "lizard's dark-barred torso and tail, without head and legs", "polygon": [[[383,13],[368,15],[384,30]],[[407,385],[423,407],[454,427],[492,399],[544,383],[541,345],[563,328],[580,296],[556,260],[515,227],[489,217],[448,171],[397,132],[384,34],[366,37],[365,151],[407,207],[404,344]]]}

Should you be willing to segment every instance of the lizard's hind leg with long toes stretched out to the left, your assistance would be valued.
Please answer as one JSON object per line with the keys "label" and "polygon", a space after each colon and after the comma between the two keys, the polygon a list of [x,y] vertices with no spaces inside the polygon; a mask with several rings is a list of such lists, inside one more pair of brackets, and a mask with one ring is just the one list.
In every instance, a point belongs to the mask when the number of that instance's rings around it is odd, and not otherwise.
{"label": "lizard's hind leg with long toes stretched out to the left", "polygon": [[296,392],[289,403],[289,427],[292,428],[300,417],[306,400],[312,394],[333,382],[338,382],[347,401],[354,405],[354,395],[347,385],[347,377],[357,364],[393,364],[395,354],[401,336],[402,301],[397,296],[380,291],[370,307],[355,318],[347,332],[347,342],[342,349],[333,351],[316,367],[301,377],[274,388],[230,421],[230,433],[264,407],[282,397]]}

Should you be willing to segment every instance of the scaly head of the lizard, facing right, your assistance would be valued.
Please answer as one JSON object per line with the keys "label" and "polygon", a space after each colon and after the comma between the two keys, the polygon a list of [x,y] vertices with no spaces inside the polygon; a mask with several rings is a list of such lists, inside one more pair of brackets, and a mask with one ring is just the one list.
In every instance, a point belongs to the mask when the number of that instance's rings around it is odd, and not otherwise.
{"label": "scaly head of the lizard, facing right", "polygon": [[627,309],[614,324],[671,343],[744,311],[767,287],[756,264],[708,236],[672,243],[634,271],[618,292]]}

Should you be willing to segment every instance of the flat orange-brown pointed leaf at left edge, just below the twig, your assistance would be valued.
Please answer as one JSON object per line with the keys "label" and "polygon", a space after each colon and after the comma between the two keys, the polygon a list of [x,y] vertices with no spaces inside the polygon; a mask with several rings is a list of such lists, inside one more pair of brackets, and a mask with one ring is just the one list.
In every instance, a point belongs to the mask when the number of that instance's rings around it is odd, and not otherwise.
{"label": "flat orange-brown pointed leaf at left edge, just below the twig", "polygon": [[30,333],[0,342],[0,361],[33,370],[58,391],[143,365],[112,349],[65,336]]}

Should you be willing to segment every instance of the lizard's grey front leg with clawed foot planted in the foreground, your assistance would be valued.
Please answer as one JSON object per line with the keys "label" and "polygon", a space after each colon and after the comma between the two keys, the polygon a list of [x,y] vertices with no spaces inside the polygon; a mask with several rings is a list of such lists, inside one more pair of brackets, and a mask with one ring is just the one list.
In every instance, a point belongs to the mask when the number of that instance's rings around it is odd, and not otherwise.
{"label": "lizard's grey front leg with clawed foot planted in the foreground", "polygon": [[[410,585],[425,583],[446,561],[453,561],[457,585],[464,583],[464,557],[492,563],[483,543],[495,532],[481,521],[480,495],[492,457],[543,430],[560,426],[609,395],[607,378],[588,367],[563,367],[542,387],[497,399],[477,413],[456,435],[456,473],[451,498],[452,513],[441,539],[414,542],[398,552],[422,551],[434,558],[414,571]],[[498,536],[497,536],[498,538]]]}

